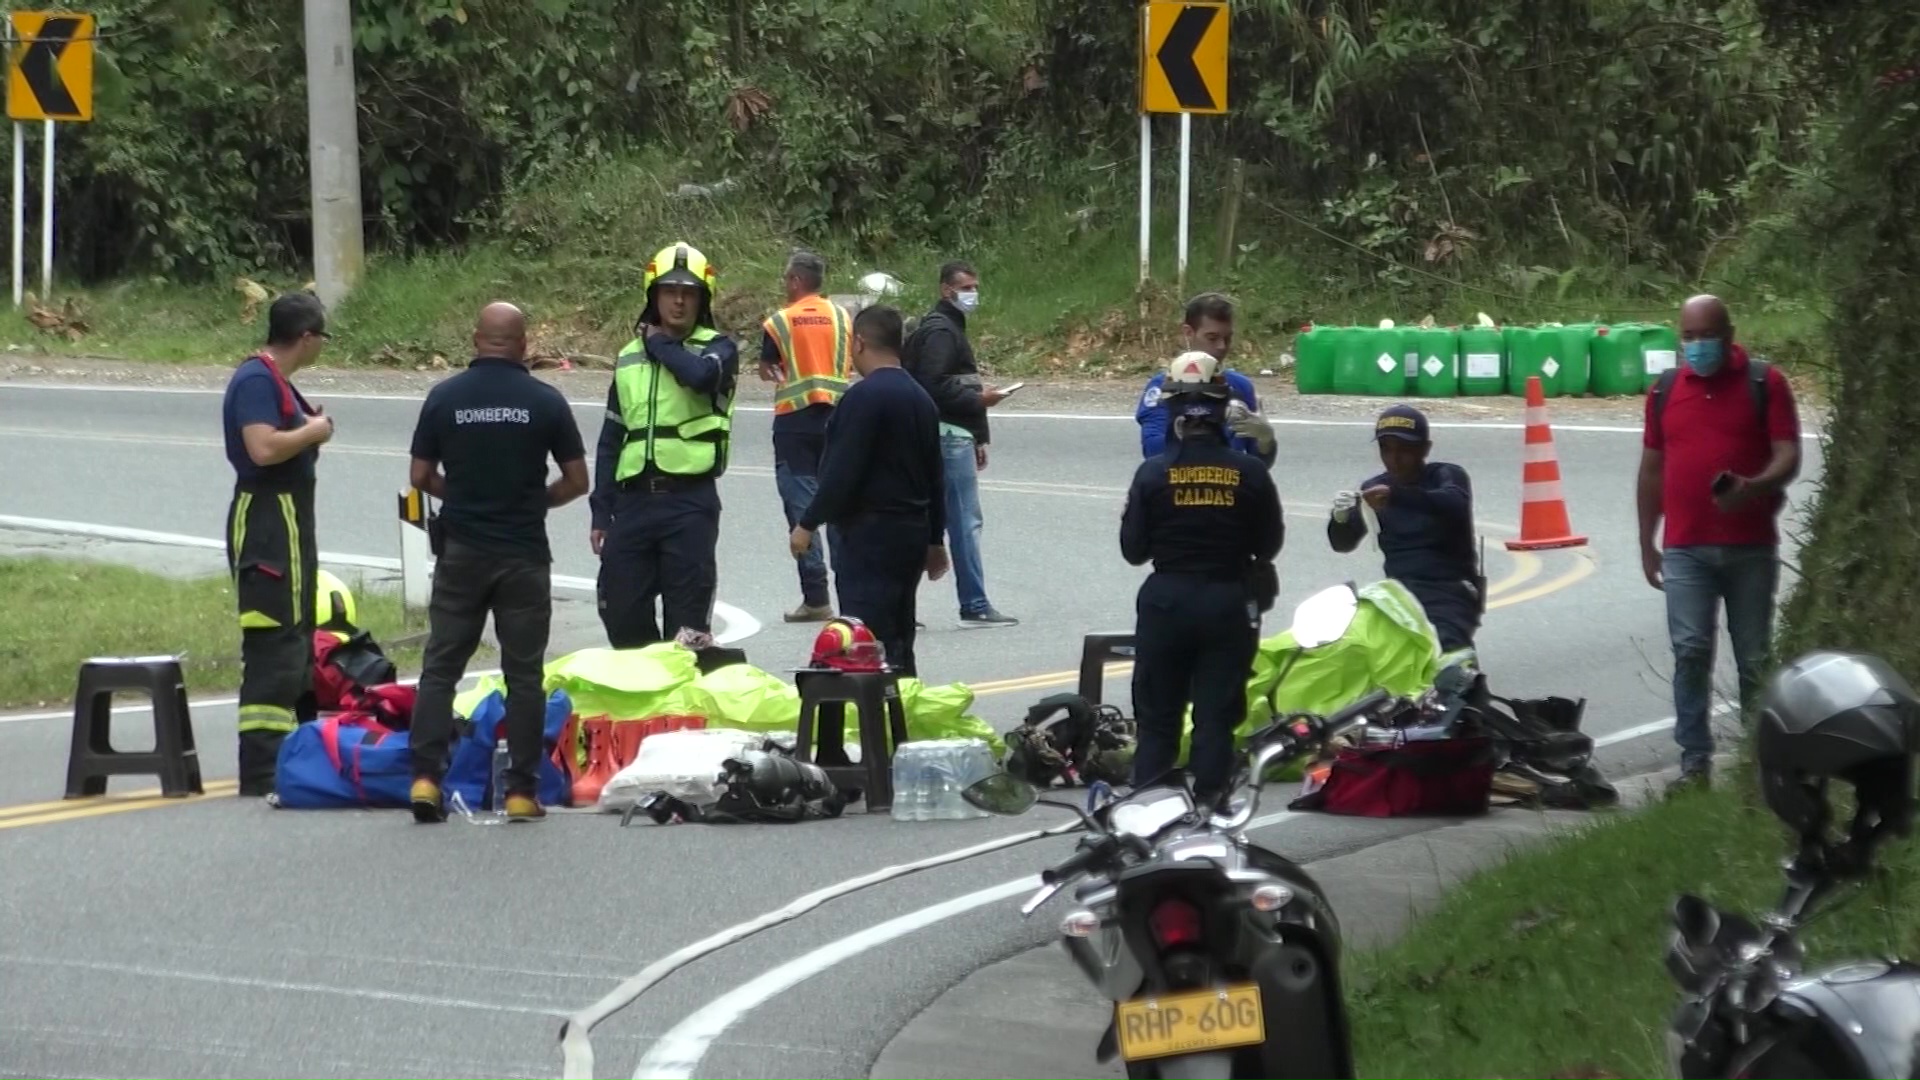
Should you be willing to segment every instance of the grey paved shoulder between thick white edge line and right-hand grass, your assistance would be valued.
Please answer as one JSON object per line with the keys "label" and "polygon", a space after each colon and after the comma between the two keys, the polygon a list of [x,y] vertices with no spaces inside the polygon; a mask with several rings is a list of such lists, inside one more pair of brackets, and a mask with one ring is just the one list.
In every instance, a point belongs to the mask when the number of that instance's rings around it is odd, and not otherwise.
{"label": "grey paved shoulder between thick white edge line and right-hand grass", "polygon": [[[1382,844],[1302,863],[1340,915],[1344,947],[1392,944],[1463,878],[1542,840],[1588,828],[1609,815],[1657,801],[1678,767],[1615,782],[1620,805],[1605,811],[1496,809],[1448,819]],[[1048,903],[1035,919],[1058,919]],[[1008,907],[1008,917],[1018,911]],[[1116,1080],[1119,1059],[1094,1061],[1112,1003],[1062,953],[1058,940],[991,963],[935,997],[874,1061],[870,1080]]]}

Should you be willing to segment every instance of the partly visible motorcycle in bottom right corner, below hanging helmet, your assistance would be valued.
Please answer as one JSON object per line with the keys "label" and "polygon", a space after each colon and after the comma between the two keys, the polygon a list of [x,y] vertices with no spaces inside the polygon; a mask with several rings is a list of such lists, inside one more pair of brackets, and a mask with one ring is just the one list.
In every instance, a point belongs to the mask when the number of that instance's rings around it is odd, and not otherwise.
{"label": "partly visible motorcycle in bottom right corner, below hanging helmet", "polygon": [[1667,1030],[1670,1076],[1920,1080],[1920,967],[1870,959],[1801,974],[1799,932],[1836,886],[1868,874],[1878,840],[1859,817],[1843,842],[1803,836],[1761,926],[1692,894],[1674,901],[1667,972],[1682,1003]]}

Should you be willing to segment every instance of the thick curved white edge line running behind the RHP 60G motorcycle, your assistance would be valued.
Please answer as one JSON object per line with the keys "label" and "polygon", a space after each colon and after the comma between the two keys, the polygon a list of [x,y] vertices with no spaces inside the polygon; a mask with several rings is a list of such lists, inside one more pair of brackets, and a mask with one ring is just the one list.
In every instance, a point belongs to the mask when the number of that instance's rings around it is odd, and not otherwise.
{"label": "thick curved white edge line running behind the RHP 60G motorcycle", "polygon": [[[1722,713],[1728,707],[1722,705],[1720,709],[1715,711]],[[1594,746],[1596,748],[1615,746],[1620,742],[1667,730],[1672,724],[1674,719],[1667,717],[1665,721],[1655,721],[1649,724],[1640,724],[1634,728],[1596,738]],[[1248,830],[1281,824],[1294,817],[1298,815],[1292,811],[1263,815],[1260,819],[1254,819],[1254,822],[1248,824]],[[824,974],[862,953],[877,949],[879,945],[885,945],[918,930],[925,930],[927,926],[935,926],[958,915],[966,915],[968,911],[985,907],[989,903],[1020,896],[1021,892],[1037,890],[1039,886],[1041,886],[1039,876],[1025,876],[1012,882],[1000,882],[996,886],[983,888],[977,892],[970,892],[966,896],[956,896],[943,903],[935,903],[920,911],[908,911],[906,915],[889,919],[887,922],[868,926],[858,934],[839,938],[835,942],[820,945],[810,953],[804,953],[780,967],[774,967],[758,974],[756,978],[730,990],[728,994],[714,997],[707,1005],[701,1005],[699,1009],[689,1013],[684,1020],[668,1028],[666,1034],[662,1034],[659,1042],[653,1043],[653,1047],[645,1053],[645,1057],[641,1057],[639,1067],[634,1070],[634,1080],[689,1080],[693,1072],[701,1067],[701,1061],[707,1059],[707,1053],[712,1049],[712,1043],[722,1034],[726,1034],[728,1028],[737,1024],[755,1009],[772,1001],[781,992],[791,990],[801,982],[806,982],[808,978]],[[566,1080],[588,1080],[588,1078],[568,1076]]]}

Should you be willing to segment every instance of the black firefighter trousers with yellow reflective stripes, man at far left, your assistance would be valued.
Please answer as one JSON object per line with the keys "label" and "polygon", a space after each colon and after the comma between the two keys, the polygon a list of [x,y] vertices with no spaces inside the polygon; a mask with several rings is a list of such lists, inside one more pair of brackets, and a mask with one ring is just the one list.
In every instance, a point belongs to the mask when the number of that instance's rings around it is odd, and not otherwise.
{"label": "black firefighter trousers with yellow reflective stripes, man at far left", "polygon": [[273,794],[280,744],[313,698],[313,480],[242,480],[227,507],[227,569],[240,609],[240,796]]}

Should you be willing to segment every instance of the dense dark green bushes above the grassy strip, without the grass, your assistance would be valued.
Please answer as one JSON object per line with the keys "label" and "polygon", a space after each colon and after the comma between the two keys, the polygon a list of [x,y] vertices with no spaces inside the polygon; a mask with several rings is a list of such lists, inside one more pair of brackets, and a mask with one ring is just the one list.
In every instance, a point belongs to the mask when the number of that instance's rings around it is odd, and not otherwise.
{"label": "dense dark green bushes above the grassy strip, without the grass", "polygon": [[[296,0],[100,0],[100,119],[63,140],[84,279],[290,265],[305,244]],[[770,227],[883,252],[1048,192],[1131,211],[1131,6],[1079,0],[355,0],[372,240],[442,246],[559,165],[670,150]],[[1229,156],[1256,208],[1371,256],[1690,273],[1791,163],[1751,0],[1236,0]],[[1158,146],[1171,146],[1164,117]],[[1171,154],[1160,154],[1171,171]],[[1258,209],[1256,209],[1258,211]],[[1356,254],[1369,273],[1404,271]],[[1448,273],[1453,273],[1448,269]],[[1565,281],[1561,282],[1565,284]]]}

